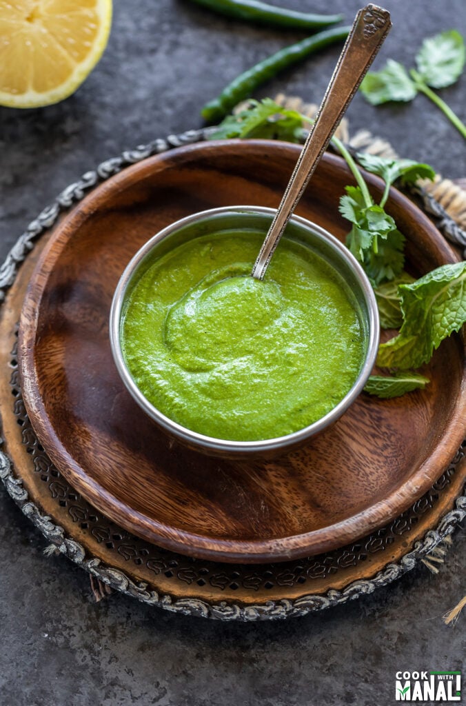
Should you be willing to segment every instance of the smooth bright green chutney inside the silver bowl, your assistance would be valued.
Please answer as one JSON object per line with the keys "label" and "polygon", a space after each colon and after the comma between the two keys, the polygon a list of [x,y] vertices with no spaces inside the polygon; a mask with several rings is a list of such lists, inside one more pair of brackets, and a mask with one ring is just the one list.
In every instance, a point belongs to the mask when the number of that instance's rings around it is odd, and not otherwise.
{"label": "smooth bright green chutney inside the silver bowl", "polygon": [[321,419],[349,392],[365,344],[342,277],[282,238],[263,281],[257,231],[198,237],[153,259],[124,301],[121,348],[143,395],[178,424],[258,441]]}

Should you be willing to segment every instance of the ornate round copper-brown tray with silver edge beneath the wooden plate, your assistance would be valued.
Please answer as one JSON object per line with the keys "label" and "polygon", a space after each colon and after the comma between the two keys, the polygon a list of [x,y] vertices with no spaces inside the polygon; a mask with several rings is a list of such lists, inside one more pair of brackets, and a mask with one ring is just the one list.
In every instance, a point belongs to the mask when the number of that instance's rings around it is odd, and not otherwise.
{"label": "ornate round copper-brown tray with silver edge beneath the wooden plate", "polygon": [[[199,137],[189,133],[181,140]],[[179,141],[157,141],[85,175],[32,223],[13,258],[8,259],[4,291],[11,283],[13,286],[0,321],[4,381],[0,408],[6,442],[0,454],[1,477],[23,512],[59,551],[112,587],[172,611],[227,620],[284,618],[371,592],[412,568],[453,532],[465,515],[461,491],[466,464],[461,451],[434,486],[385,527],[328,554],[252,568],[174,554],[107,520],[52,465],[25,415],[18,385],[15,327],[47,229],[61,209],[79,200],[84,189],[108,176],[112,169],[121,169],[150,151],[167,149]],[[28,254],[32,239],[40,234],[40,243]],[[17,263],[23,259],[25,263],[17,275]]]}

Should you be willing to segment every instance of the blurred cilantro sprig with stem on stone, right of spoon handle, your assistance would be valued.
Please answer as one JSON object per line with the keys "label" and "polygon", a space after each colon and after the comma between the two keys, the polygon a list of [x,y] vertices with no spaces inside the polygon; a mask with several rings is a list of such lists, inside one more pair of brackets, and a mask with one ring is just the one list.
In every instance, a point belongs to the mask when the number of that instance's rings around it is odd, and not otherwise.
{"label": "blurred cilantro sprig with stem on stone, right of spoon handle", "polygon": [[415,57],[417,68],[408,72],[398,61],[388,59],[378,72],[369,72],[360,90],[373,105],[388,101],[409,102],[424,93],[466,139],[466,125],[432,89],[447,88],[458,80],[465,66],[465,41],[457,30],[441,32],[422,42]]}

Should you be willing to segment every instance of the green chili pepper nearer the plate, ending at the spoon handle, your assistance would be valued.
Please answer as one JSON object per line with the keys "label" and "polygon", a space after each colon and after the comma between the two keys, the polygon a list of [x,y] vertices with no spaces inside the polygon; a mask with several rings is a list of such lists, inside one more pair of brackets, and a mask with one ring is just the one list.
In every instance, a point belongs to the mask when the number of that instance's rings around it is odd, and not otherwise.
{"label": "green chili pepper nearer the plate, ending at the spoon handle", "polygon": [[345,40],[350,29],[350,27],[336,27],[331,30],[325,30],[324,32],[319,32],[318,35],[306,37],[305,40],[301,40],[297,44],[291,44],[289,47],[280,49],[280,52],[268,56],[267,59],[234,78],[232,83],[229,83],[222,90],[219,97],[205,104],[201,110],[201,115],[208,122],[219,121],[241,100],[249,98],[256,88],[265,83],[266,80],[273,78],[282,69],[297,64],[298,61],[309,56],[309,54],[313,54],[313,52],[317,52],[318,49],[323,49],[323,47],[333,44],[333,42]]}

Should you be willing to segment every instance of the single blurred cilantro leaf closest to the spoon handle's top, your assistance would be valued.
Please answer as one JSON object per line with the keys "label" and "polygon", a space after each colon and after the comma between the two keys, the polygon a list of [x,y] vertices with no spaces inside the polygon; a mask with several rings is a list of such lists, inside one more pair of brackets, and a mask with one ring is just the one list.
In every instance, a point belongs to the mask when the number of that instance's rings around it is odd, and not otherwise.
{"label": "single blurred cilantro leaf closest to the spoon handle's top", "polygon": [[417,94],[416,85],[405,67],[393,59],[388,59],[382,71],[367,73],[360,90],[372,105],[380,105],[389,100],[407,102]]}

